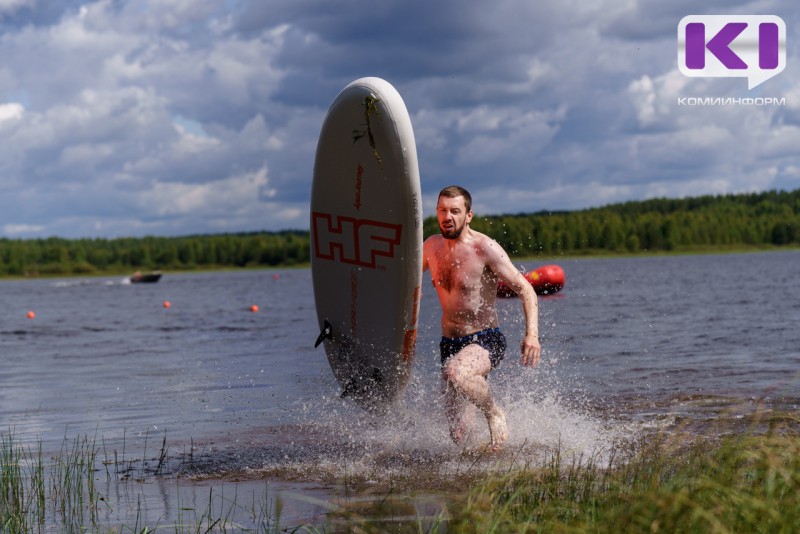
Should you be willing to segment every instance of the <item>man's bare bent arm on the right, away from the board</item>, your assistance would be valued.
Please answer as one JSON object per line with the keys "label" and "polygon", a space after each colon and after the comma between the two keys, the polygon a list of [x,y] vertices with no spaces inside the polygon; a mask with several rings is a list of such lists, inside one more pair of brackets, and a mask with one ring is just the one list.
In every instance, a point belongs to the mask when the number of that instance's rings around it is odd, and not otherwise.
{"label": "man's bare bent arm on the right, away from the board", "polygon": [[525,311],[525,338],[522,340],[522,364],[533,367],[539,363],[542,349],[539,344],[539,299],[531,284],[514,267],[511,259],[496,241],[490,241],[487,250],[489,267],[497,277],[513,289],[522,301]]}

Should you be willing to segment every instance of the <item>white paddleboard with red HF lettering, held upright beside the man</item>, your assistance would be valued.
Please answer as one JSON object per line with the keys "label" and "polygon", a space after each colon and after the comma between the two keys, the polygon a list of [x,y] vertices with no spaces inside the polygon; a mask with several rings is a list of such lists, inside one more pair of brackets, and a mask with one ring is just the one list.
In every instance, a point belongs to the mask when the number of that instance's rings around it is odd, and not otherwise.
{"label": "white paddleboard with red HF lettering, held upright beside the man", "polygon": [[380,78],[331,104],[311,190],[320,336],[342,396],[382,411],[411,372],[422,281],[417,149],[403,99]]}

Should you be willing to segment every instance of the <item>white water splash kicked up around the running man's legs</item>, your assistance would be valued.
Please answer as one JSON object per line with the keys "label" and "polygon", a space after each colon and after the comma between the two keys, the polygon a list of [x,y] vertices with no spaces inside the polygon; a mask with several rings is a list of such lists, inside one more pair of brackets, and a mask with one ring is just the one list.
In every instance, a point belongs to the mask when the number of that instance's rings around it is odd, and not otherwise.
{"label": "white water splash kicked up around the running man's legs", "polygon": [[541,465],[556,451],[602,460],[615,445],[635,437],[630,424],[591,415],[581,408],[582,399],[565,399],[556,364],[523,372],[514,364],[491,379],[511,430],[499,453],[482,446],[489,442],[482,416],[476,417],[466,445],[451,441],[437,372],[415,373],[404,396],[381,415],[340,399],[335,384],[321,377],[330,385],[328,394],[298,402],[284,425],[210,452],[189,474],[332,484],[403,480],[425,487],[443,479]]}

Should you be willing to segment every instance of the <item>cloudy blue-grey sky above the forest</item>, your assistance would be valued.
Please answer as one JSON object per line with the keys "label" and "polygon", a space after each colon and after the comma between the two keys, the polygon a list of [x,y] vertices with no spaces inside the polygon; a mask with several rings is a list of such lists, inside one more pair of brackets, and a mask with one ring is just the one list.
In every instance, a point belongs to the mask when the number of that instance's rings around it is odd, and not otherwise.
{"label": "cloudy blue-grey sky above the forest", "polygon": [[[403,96],[427,213],[800,187],[796,0],[0,0],[0,237],[308,228],[350,81]],[[778,15],[786,69],[689,78],[692,14]],[[680,99],[785,99],[688,106]]]}

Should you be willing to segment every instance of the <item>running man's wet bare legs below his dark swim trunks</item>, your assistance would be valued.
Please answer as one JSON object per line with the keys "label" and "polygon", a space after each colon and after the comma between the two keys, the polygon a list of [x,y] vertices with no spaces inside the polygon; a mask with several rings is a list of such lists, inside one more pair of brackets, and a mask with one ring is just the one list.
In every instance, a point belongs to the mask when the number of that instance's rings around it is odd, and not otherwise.
{"label": "running man's wet bare legs below his dark swim trunks", "polygon": [[[492,369],[489,361],[489,352],[479,345],[468,345],[461,352],[450,358],[445,365],[442,376],[448,386],[449,391],[453,390],[453,395],[463,397],[486,416],[489,423],[489,433],[492,439],[492,450],[498,450],[508,439],[508,424],[506,415],[494,402],[489,393],[489,384],[486,382],[486,375]],[[450,404],[449,406],[455,406]],[[452,429],[459,428],[463,410],[453,410],[455,417],[450,419],[451,435]],[[448,417],[451,412],[448,409]],[[453,437],[455,440],[455,436]],[[463,435],[461,436],[463,439]],[[457,441],[458,442],[458,441]]]}

